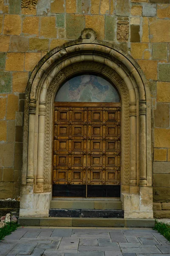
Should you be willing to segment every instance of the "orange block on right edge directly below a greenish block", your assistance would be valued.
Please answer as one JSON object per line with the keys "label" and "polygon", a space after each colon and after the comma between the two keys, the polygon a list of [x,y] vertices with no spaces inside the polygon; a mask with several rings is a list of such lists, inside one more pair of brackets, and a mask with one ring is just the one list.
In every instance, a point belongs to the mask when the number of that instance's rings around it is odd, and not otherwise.
{"label": "orange block on right edge directly below a greenish block", "polygon": [[157,102],[170,102],[170,82],[157,82]]}

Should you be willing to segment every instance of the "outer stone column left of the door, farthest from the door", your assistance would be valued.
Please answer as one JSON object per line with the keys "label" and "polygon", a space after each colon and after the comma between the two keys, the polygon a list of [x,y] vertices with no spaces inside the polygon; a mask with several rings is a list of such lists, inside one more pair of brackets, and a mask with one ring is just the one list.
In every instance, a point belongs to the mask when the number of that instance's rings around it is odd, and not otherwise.
{"label": "outer stone column left of the door, farthest from the door", "polygon": [[28,127],[28,160],[27,160],[27,184],[34,184],[34,147],[35,147],[35,114],[36,100],[29,102],[29,127]]}

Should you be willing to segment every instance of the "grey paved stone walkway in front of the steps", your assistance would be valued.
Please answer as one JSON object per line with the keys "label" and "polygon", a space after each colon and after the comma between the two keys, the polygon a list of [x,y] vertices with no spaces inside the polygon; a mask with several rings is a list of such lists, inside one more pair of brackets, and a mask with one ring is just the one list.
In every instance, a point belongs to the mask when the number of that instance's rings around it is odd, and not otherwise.
{"label": "grey paved stone walkway in front of the steps", "polygon": [[170,242],[151,228],[18,228],[0,256],[170,256]]}

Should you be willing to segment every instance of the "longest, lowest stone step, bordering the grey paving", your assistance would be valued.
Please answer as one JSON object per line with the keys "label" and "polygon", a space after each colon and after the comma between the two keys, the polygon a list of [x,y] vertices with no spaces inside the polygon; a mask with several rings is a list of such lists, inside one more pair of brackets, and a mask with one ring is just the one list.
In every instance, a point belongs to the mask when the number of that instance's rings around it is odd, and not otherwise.
{"label": "longest, lowest stone step, bordering the grey paving", "polygon": [[154,227],[155,219],[20,217],[18,224],[46,227]]}

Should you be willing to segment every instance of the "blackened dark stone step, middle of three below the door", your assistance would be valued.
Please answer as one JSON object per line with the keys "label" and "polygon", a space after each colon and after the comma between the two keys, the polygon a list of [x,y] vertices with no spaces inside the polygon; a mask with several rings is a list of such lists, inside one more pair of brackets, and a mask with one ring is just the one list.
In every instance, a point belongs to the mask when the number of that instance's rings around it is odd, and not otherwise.
{"label": "blackened dark stone step, middle of three below the door", "polygon": [[113,209],[49,209],[49,217],[123,218],[123,210]]}

